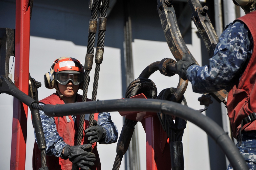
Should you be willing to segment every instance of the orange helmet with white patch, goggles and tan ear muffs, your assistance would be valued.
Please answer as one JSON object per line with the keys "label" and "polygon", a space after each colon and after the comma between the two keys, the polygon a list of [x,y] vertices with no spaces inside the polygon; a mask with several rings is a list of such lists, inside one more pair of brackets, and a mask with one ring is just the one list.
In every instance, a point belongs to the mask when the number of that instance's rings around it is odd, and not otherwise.
{"label": "orange helmet with white patch, goggles and tan ear muffs", "polygon": [[[70,57],[60,57],[51,66],[51,71],[44,75],[45,87],[56,88],[56,82],[66,85],[72,81],[74,85],[80,84],[83,88],[84,68],[79,60]],[[58,90],[58,89],[57,89]]]}

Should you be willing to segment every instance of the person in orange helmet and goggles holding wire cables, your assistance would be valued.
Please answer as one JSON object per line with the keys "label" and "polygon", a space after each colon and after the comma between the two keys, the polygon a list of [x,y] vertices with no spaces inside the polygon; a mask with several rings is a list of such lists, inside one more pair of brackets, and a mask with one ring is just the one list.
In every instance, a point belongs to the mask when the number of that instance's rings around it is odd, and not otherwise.
{"label": "person in orange helmet and goggles holding wire cables", "polygon": [[[45,86],[56,88],[57,92],[40,100],[39,105],[81,102],[82,96],[77,94],[78,89],[83,87],[84,69],[81,63],[74,58],[61,57],[51,68],[52,71],[45,74]],[[97,142],[110,144],[118,138],[118,130],[108,112],[94,114],[98,123],[90,128],[89,115],[85,115],[81,145],[76,145],[80,115],[48,117],[42,110],[39,113],[47,145],[46,163],[49,170],[72,169],[72,164],[86,170],[101,169]],[[35,135],[33,170],[40,167],[41,155]]]}

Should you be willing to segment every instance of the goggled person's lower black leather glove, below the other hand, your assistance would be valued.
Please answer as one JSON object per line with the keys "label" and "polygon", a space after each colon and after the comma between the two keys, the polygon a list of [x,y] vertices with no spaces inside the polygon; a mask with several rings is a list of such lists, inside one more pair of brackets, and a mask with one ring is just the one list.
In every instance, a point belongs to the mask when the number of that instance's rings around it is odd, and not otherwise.
{"label": "goggled person's lower black leather glove, below the other hand", "polygon": [[92,165],[94,165],[93,161],[96,160],[95,154],[91,153],[92,145],[84,144],[84,145],[76,145],[70,146],[66,145],[63,152],[63,159],[68,159],[78,167],[83,170],[89,170]]}

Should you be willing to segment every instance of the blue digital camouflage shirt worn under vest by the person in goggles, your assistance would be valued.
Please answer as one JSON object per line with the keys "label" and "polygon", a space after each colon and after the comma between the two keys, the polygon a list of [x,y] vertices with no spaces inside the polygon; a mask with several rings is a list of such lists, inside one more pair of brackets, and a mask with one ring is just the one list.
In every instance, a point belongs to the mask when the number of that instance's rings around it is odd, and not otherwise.
{"label": "blue digital camouflage shirt worn under vest by the person in goggles", "polygon": [[[39,103],[39,105],[44,105]],[[44,111],[39,110],[42,127],[45,134],[46,141],[46,154],[48,156],[55,155],[61,156],[63,148],[67,145],[63,138],[58,134],[56,129],[56,124],[54,122],[54,117],[49,117],[45,115]],[[73,121],[76,121],[76,116],[72,116]],[[98,124],[106,129],[106,137],[104,144],[110,144],[117,141],[118,130],[111,120],[111,116],[108,112],[99,113]],[[36,135],[35,140],[37,143]]]}

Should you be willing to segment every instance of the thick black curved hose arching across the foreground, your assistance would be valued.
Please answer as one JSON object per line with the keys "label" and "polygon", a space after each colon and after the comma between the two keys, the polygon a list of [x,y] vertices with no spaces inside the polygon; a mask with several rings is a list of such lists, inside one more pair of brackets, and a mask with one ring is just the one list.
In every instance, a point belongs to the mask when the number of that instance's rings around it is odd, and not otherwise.
{"label": "thick black curved hose arching across the foreground", "polygon": [[231,165],[236,170],[249,170],[246,162],[227,133],[212,119],[200,112],[178,103],[157,99],[116,99],[70,103],[65,105],[45,105],[47,116],[67,116],[111,111],[150,111],[186,119],[204,130],[220,146]]}

